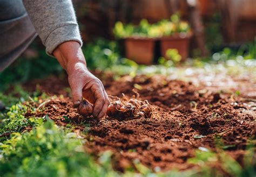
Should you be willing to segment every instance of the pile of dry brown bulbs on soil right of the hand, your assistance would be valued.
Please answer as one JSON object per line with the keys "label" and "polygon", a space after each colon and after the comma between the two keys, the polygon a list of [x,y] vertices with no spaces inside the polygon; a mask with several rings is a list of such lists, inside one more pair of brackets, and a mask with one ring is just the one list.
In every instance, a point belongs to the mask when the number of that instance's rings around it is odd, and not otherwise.
{"label": "pile of dry brown bulbs on soil right of the hand", "polygon": [[129,100],[123,94],[123,97],[118,98],[118,101],[110,103],[106,115],[121,120],[128,118],[152,118],[153,107],[146,100],[137,100],[134,95]]}

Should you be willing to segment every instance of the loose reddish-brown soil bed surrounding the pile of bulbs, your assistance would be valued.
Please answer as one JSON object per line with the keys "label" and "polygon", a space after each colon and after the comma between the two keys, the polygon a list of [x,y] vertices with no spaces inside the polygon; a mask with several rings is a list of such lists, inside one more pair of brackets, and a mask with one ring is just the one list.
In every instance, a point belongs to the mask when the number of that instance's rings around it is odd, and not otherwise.
{"label": "loose reddish-brown soil bed surrounding the pile of bulbs", "polygon": [[[48,83],[50,83],[48,81]],[[55,83],[52,83],[53,85]],[[165,77],[123,77],[119,81],[105,83],[112,96],[131,97],[134,84],[139,100],[148,100],[154,107],[153,118],[120,121],[105,117],[99,123],[79,116],[69,97],[56,98],[45,103],[36,116],[48,114],[57,125],[66,126],[68,116],[76,131],[86,131],[86,151],[95,154],[111,150],[113,166],[119,171],[133,166],[139,159],[144,165],[165,171],[171,168],[194,167],[187,159],[194,156],[199,147],[215,151],[217,139],[227,145],[226,151],[241,165],[248,139],[255,139],[255,111],[241,97],[227,93],[215,93],[196,88],[192,83],[167,81]],[[61,90],[61,89],[60,89]],[[55,90],[56,91],[56,90]],[[27,113],[26,116],[32,116]]]}

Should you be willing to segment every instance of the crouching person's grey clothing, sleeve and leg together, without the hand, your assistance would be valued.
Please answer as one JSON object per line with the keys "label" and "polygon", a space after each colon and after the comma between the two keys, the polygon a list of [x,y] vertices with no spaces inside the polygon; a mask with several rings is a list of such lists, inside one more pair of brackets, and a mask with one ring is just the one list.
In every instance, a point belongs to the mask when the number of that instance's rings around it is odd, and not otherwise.
{"label": "crouching person's grey clothing, sleeve and leg together, without the hand", "polygon": [[39,34],[52,56],[65,41],[82,46],[71,0],[0,0],[0,72]]}

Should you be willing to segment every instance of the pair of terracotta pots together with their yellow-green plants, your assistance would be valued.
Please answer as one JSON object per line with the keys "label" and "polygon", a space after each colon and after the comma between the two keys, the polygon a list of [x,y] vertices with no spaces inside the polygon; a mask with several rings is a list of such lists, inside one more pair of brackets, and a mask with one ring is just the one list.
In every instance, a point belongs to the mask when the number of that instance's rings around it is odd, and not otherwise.
{"label": "pair of terracotta pots together with their yellow-green plants", "polygon": [[166,59],[168,57],[165,54],[169,48],[178,49],[181,60],[185,60],[188,55],[190,26],[182,22],[177,14],[155,24],[149,24],[146,19],[142,19],[137,26],[117,22],[113,33],[116,38],[124,39],[126,58],[139,64],[152,64],[156,41],[160,41],[161,56]]}

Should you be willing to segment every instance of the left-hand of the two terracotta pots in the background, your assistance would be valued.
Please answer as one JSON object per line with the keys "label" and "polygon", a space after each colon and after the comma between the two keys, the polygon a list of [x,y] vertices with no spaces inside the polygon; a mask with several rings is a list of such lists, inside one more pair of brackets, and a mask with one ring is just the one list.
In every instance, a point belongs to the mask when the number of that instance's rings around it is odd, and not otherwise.
{"label": "left-hand of the two terracotta pots in the background", "polygon": [[126,38],[125,57],[138,64],[151,65],[154,58],[155,39],[152,38]]}

